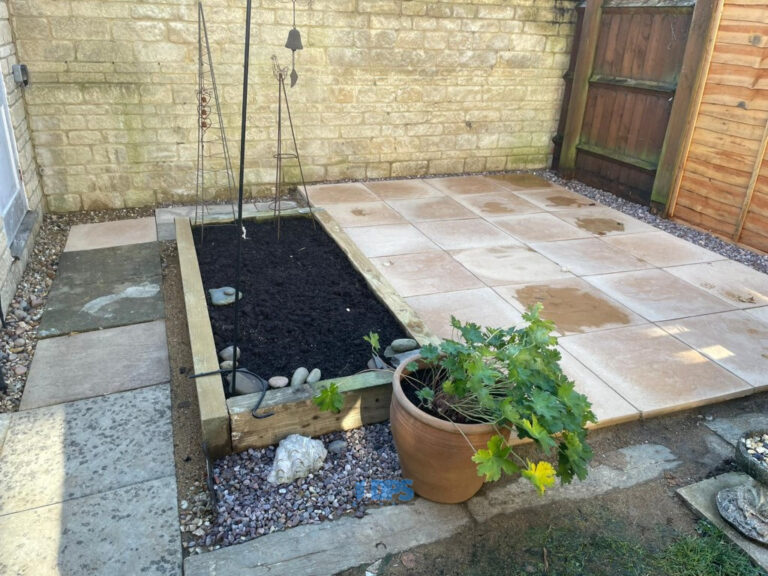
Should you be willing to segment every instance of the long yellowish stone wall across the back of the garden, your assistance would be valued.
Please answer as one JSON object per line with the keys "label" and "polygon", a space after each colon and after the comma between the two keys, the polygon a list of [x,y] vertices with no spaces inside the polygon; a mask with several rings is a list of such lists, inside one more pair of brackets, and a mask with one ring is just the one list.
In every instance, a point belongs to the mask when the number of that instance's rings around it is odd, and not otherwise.
{"label": "long yellowish stone wall across the back of the garden", "polygon": [[[245,0],[207,0],[237,161]],[[197,2],[10,0],[48,209],[191,202]],[[274,181],[291,3],[254,0],[249,190]],[[573,0],[307,0],[291,112],[308,181],[548,166]],[[211,146],[209,149],[213,150]],[[288,166],[295,179],[295,166]],[[219,174],[219,180],[222,175]]]}

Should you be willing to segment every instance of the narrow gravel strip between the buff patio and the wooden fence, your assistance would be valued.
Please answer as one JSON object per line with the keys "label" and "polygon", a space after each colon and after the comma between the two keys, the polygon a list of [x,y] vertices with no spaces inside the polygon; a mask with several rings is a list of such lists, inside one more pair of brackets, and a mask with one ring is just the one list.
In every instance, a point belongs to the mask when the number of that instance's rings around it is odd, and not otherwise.
{"label": "narrow gravel strip between the buff patio and the wooden fence", "polygon": [[731,242],[718,238],[717,236],[704,232],[703,230],[691,228],[685,224],[681,224],[680,222],[666,220],[660,216],[651,214],[650,208],[648,206],[630,202],[629,200],[619,198],[610,192],[592,188],[591,186],[587,186],[586,184],[576,180],[564,180],[551,170],[539,170],[535,171],[535,173],[546,178],[550,182],[559,184],[568,190],[572,190],[578,194],[581,194],[582,196],[586,196],[590,200],[595,200],[600,204],[604,204],[605,206],[609,206],[614,210],[618,210],[619,212],[623,212],[624,214],[632,216],[633,218],[637,218],[638,220],[641,220],[646,224],[650,224],[659,230],[669,232],[670,234],[677,236],[678,238],[682,238],[683,240],[688,240],[697,246],[701,246],[702,248],[706,248],[712,252],[717,252],[726,258],[730,258],[731,260],[741,262],[750,268],[754,268],[758,272],[768,274],[768,254],[753,252],[752,250],[741,248],[736,244],[732,244]]}

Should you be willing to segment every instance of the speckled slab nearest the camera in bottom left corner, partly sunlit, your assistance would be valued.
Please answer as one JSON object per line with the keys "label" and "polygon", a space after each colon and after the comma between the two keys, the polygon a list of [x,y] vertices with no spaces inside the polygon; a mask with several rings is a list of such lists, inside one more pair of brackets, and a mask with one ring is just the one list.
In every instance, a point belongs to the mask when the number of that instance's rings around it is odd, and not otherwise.
{"label": "speckled slab nearest the camera in bottom left corner, partly sunlit", "polygon": [[4,574],[180,576],[173,475],[0,517]]}

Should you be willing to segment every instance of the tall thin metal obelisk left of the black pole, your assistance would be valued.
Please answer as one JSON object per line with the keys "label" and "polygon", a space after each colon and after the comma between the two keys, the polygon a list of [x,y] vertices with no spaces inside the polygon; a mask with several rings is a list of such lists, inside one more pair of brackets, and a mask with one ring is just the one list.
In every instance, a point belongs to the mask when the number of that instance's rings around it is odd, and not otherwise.
{"label": "tall thin metal obelisk left of the black pole", "polygon": [[[216,119],[218,121],[219,142],[221,143],[221,152],[217,156],[209,155],[209,158],[220,158],[224,161],[224,171],[227,174],[227,191],[229,193],[230,204],[232,205],[232,217],[235,217],[234,209],[234,190],[235,178],[232,170],[232,158],[229,154],[229,144],[227,142],[226,131],[221,114],[221,103],[219,100],[219,90],[216,85],[216,73],[213,68],[213,58],[211,56],[211,45],[208,41],[208,27],[205,22],[205,11],[203,3],[197,4],[197,22],[198,22],[198,85],[197,85],[197,179],[196,192],[197,204],[195,206],[195,225],[200,225],[200,243],[203,243],[205,234],[205,213],[208,207],[205,203],[205,185],[206,175],[214,175],[220,170],[210,170],[205,162],[206,154],[206,136],[210,129],[215,132],[213,119],[211,116],[211,100],[216,106]],[[207,66],[207,70],[206,70]],[[210,77],[210,80],[209,78]],[[208,140],[210,144],[215,140]]]}

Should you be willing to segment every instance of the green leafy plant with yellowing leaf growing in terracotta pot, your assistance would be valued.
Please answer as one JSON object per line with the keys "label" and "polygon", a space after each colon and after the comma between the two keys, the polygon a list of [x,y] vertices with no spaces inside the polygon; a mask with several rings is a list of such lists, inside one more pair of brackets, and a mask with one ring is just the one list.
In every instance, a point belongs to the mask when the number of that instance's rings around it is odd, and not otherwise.
{"label": "green leafy plant with yellowing leaf growing in terracotta pot", "polygon": [[[420,407],[455,423],[486,423],[496,429],[472,460],[488,481],[521,474],[543,493],[555,478],[586,478],[592,450],[586,443],[591,404],[562,372],[554,324],[539,316],[541,304],[524,316],[520,328],[481,328],[451,318],[461,340],[445,340],[421,350],[426,368],[408,366],[405,383]],[[530,438],[547,460],[521,458],[509,438]]]}

